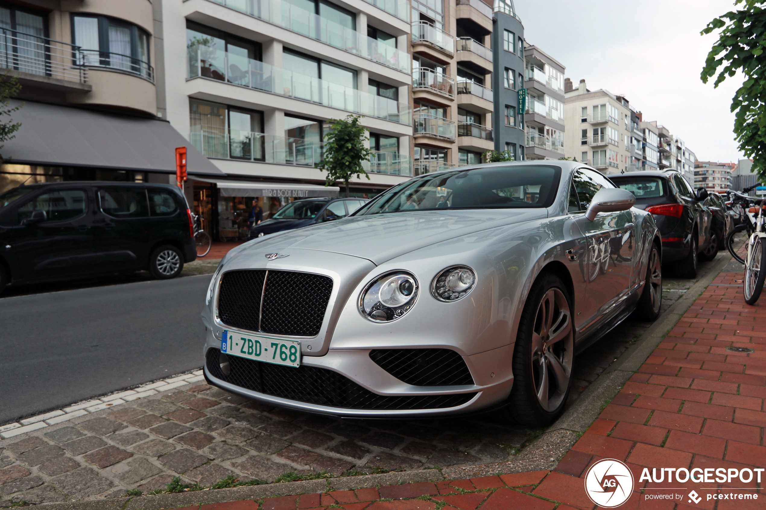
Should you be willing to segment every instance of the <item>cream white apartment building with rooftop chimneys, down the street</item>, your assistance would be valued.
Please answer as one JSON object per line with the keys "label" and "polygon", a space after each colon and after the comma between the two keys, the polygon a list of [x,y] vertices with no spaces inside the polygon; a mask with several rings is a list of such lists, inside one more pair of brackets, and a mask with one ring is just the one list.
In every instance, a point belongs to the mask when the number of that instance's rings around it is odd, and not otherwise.
{"label": "cream white apartment building with rooftop chimneys, down the street", "polygon": [[591,91],[580,80],[565,83],[564,149],[569,158],[584,161],[604,174],[630,171],[637,154],[630,148],[633,123],[630,102],[604,89]]}

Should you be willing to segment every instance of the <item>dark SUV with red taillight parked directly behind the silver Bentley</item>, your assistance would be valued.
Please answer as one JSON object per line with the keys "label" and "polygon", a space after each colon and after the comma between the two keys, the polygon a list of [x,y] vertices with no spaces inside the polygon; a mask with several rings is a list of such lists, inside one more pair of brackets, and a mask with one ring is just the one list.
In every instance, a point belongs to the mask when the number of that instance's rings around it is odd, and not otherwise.
{"label": "dark SUV with red taillight parked directly behind the silver Bentley", "polygon": [[[643,171],[609,178],[636,196],[636,207],[652,213],[663,240],[663,264],[674,262],[682,278],[695,278],[699,252],[709,253],[712,213],[705,188],[692,190],[676,171]],[[713,254],[715,257],[715,254]]]}

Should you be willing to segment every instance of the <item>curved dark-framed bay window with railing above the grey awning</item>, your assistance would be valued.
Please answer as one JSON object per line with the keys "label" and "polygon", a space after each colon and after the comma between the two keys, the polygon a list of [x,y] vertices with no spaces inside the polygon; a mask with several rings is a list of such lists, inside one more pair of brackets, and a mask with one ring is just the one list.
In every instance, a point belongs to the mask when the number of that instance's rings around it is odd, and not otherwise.
{"label": "curved dark-framed bay window with railing above the grey awning", "polygon": [[153,80],[149,34],[135,24],[106,16],[73,15],[74,44],[88,66],[109,67]]}

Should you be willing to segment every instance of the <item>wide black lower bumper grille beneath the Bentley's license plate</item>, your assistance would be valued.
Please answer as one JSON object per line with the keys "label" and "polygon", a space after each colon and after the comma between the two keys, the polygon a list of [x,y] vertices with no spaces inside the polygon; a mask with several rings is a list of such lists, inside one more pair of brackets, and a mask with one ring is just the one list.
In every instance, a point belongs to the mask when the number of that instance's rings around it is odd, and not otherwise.
{"label": "wide black lower bumper grille beneath the Bentley's license plate", "polygon": [[298,368],[228,356],[230,372],[221,372],[219,349],[208,349],[208,372],[221,381],[258,393],[290,400],[348,409],[440,409],[454,408],[476,396],[424,395],[387,397],[362,388],[349,378],[328,369],[302,365]]}

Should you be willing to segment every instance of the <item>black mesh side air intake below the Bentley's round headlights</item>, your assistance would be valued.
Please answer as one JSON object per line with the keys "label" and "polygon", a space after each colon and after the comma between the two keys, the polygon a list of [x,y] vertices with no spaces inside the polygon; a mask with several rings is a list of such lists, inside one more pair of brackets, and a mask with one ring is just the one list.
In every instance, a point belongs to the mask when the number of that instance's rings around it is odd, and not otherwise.
{"label": "black mesh side air intake below the Bentley's round headlights", "polygon": [[370,358],[408,385],[473,385],[463,357],[450,349],[375,349]]}

